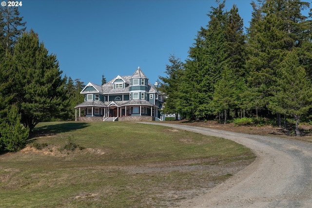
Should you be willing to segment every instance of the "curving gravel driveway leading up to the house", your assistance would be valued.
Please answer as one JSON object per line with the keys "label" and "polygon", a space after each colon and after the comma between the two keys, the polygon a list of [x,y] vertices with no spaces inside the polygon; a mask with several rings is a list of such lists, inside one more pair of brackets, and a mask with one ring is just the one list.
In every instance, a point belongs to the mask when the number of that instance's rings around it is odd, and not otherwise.
{"label": "curving gravel driveway leading up to the house", "polygon": [[181,208],[312,208],[312,143],[203,127],[140,122],[218,136],[254,151],[254,163]]}

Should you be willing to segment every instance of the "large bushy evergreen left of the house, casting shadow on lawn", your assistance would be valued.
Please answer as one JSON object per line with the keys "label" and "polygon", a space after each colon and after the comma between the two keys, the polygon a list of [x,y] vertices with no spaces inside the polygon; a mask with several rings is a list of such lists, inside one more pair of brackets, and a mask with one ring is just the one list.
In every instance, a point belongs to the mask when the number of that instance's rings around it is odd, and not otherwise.
{"label": "large bushy evergreen left of the house, casting shadow on lawn", "polygon": [[62,71],[55,55],[48,55],[38,35],[31,30],[25,32],[9,56],[8,94],[15,94],[13,102],[20,109],[22,123],[32,130],[42,120],[59,117],[66,109],[66,80],[61,78]]}

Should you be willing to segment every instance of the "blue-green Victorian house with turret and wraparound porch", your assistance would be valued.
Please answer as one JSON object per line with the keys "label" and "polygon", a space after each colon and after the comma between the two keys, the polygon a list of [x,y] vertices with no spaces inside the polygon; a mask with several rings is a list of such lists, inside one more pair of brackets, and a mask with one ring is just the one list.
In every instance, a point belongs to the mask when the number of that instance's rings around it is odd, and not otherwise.
{"label": "blue-green Victorian house with turret and wraparound porch", "polygon": [[80,92],[84,102],[75,107],[77,121],[162,120],[162,98],[157,85],[138,67],[132,76],[116,76],[102,86],[89,82]]}

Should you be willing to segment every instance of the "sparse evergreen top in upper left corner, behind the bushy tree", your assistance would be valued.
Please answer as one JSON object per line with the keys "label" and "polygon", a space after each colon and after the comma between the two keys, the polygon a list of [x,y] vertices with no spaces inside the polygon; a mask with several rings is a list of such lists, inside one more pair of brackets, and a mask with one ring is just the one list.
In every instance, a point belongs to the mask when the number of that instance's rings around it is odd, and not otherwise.
{"label": "sparse evergreen top in upper left corner, behind the bushy tree", "polygon": [[23,17],[20,17],[18,8],[10,6],[0,7],[0,29],[2,30],[0,41],[9,52],[13,52],[14,44],[26,30],[26,22],[22,22]]}

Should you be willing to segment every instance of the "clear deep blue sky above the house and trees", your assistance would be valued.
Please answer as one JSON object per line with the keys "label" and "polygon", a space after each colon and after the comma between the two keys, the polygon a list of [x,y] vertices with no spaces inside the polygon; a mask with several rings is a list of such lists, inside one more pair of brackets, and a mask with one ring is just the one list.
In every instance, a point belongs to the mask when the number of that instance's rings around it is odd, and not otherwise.
{"label": "clear deep blue sky above the house and trees", "polygon": [[[226,0],[249,26],[252,0]],[[153,84],[170,54],[188,56],[215,0],[22,0],[20,16],[57,55],[63,75],[101,84],[139,66]]]}

